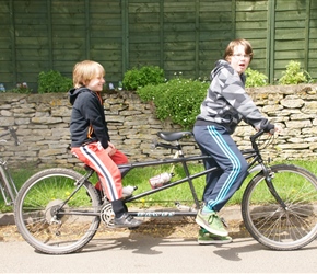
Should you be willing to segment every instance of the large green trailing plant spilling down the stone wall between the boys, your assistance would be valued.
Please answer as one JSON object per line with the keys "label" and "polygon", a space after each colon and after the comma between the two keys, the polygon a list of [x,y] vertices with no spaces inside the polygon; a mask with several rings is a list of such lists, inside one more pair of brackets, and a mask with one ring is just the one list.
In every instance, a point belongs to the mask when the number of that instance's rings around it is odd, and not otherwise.
{"label": "large green trailing plant spilling down the stone wall between the boys", "polygon": [[209,82],[177,78],[158,85],[149,84],[137,90],[143,102],[153,101],[161,121],[171,118],[185,129],[191,129],[200,113]]}

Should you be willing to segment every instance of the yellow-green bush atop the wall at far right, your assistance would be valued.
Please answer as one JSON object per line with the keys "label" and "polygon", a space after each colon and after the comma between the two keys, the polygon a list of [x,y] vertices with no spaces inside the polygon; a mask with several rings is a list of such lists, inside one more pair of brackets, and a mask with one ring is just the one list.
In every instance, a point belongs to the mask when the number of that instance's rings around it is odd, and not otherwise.
{"label": "yellow-green bush atop the wall at far right", "polygon": [[297,84],[312,81],[312,77],[309,76],[309,73],[301,69],[301,62],[298,61],[290,61],[286,65],[286,71],[283,71],[282,75],[283,76],[279,80],[280,84]]}

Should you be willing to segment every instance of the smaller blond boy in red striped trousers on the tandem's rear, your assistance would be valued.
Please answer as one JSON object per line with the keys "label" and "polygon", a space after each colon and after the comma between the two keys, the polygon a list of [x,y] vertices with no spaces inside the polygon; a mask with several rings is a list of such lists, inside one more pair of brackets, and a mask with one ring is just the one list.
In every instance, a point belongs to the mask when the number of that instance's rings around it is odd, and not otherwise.
{"label": "smaller blond boy in red striped trousers on the tandem's rear", "polygon": [[141,221],[129,215],[122,201],[121,173],[117,164],[127,163],[128,159],[110,142],[101,96],[104,76],[104,67],[96,61],[84,60],[73,68],[74,88],[69,91],[71,152],[97,172],[115,213],[115,226],[133,228]]}

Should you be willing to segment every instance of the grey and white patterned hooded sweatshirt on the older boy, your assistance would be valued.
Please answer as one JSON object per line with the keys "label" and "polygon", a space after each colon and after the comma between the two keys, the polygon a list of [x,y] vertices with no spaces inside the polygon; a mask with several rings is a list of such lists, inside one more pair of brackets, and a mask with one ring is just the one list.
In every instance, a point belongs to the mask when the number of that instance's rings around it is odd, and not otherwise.
{"label": "grey and white patterned hooded sweatshirt on the older boy", "polygon": [[243,119],[256,129],[270,132],[273,124],[263,117],[245,91],[244,73],[240,76],[225,60],[219,60],[211,71],[211,84],[200,106],[196,126],[220,124],[233,134]]}

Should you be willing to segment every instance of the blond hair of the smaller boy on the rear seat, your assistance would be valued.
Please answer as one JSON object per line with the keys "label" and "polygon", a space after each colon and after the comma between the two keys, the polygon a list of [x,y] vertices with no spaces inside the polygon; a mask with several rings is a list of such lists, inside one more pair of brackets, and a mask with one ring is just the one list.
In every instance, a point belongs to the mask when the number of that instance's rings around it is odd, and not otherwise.
{"label": "blond hair of the smaller boy on the rear seat", "polygon": [[95,77],[105,76],[104,67],[92,60],[80,61],[72,70],[72,82],[75,89],[86,85]]}

